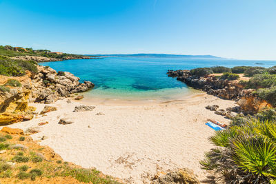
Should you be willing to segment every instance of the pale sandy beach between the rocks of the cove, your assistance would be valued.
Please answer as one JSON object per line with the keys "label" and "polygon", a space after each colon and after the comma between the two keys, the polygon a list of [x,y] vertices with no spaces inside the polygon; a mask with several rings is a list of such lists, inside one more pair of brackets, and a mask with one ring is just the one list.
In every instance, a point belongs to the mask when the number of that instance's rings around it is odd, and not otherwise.
{"label": "pale sandy beach between the rocks of the cove", "polygon": [[[92,102],[83,99],[81,103]],[[48,136],[40,142],[41,145],[49,145],[65,161],[96,167],[103,174],[126,179],[127,183],[149,183],[157,172],[178,167],[188,167],[194,170],[199,180],[204,179],[206,172],[200,169],[199,161],[204,158],[204,152],[213,147],[208,137],[215,132],[204,123],[206,119],[229,122],[206,110],[205,106],[217,104],[225,109],[233,107],[234,101],[199,94],[184,101],[167,103],[97,101],[92,111],[72,112],[78,104],[66,103],[66,99],[57,101],[52,106],[58,111],[9,126],[26,130],[48,121],[32,138],[40,140],[42,136]],[[43,104],[34,106],[39,112],[44,107]],[[105,115],[96,115],[98,112]],[[75,123],[59,125],[62,117],[70,117]]]}

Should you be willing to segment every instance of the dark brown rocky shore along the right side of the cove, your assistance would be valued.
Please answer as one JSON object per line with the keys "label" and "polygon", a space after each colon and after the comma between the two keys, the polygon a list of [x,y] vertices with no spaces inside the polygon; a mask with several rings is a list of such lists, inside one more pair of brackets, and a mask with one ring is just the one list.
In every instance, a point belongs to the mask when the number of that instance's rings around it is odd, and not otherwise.
{"label": "dark brown rocky shore along the right side of the cove", "polygon": [[168,70],[168,76],[177,77],[178,81],[186,83],[197,90],[202,90],[221,99],[235,100],[244,114],[255,114],[265,107],[272,107],[270,103],[259,99],[255,90],[244,89],[239,81],[219,79],[215,75],[196,76],[190,70]]}

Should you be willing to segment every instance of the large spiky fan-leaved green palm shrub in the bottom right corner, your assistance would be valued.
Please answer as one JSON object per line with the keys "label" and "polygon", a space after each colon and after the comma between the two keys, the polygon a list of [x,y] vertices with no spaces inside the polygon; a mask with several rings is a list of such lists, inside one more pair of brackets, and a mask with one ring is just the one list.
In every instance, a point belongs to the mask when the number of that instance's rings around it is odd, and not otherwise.
{"label": "large spiky fan-leaved green palm shrub in the bottom right corner", "polygon": [[[238,122],[241,122],[240,119]],[[206,153],[201,165],[215,170],[229,183],[276,181],[276,123],[248,119],[217,131],[210,142],[217,146]]]}

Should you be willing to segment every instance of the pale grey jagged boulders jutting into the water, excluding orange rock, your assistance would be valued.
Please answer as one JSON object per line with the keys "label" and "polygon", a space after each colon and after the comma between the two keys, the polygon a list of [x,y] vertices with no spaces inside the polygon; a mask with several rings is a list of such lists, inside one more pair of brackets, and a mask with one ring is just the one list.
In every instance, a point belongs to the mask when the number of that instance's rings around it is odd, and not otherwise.
{"label": "pale grey jagged boulders jutting into the water, excluding orange rock", "polygon": [[52,68],[38,66],[39,72],[32,79],[30,101],[39,103],[54,103],[61,97],[70,94],[86,92],[94,87],[90,81],[79,82],[79,77],[70,72],[56,72]]}

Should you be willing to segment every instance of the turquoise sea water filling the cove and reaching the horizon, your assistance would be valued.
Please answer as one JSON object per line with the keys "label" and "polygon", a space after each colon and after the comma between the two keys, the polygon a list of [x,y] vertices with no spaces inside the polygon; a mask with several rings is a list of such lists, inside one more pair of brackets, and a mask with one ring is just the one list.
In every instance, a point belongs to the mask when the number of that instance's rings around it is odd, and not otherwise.
{"label": "turquoise sea water filling the cove and reaching the horizon", "polygon": [[[262,65],[256,63],[263,63]],[[95,88],[87,96],[105,99],[177,99],[192,92],[186,84],[166,75],[167,70],[198,67],[252,65],[270,67],[276,61],[233,59],[186,59],[155,57],[107,57],[40,63],[57,71],[68,71],[81,81],[92,81]]]}

